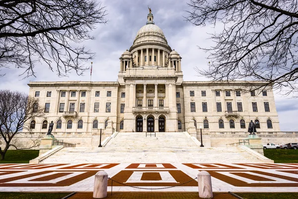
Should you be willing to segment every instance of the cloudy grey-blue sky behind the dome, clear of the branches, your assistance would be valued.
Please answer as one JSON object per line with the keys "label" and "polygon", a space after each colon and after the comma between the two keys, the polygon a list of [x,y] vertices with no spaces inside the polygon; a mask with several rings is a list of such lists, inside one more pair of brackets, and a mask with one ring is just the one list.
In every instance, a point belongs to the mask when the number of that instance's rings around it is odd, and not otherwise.
{"label": "cloudy grey-blue sky behind the dome, clear of the branches", "polygon": [[[208,47],[214,43],[208,39],[208,33],[221,31],[221,24],[217,27],[195,27],[186,22],[183,16],[188,10],[189,0],[103,0],[102,5],[108,10],[107,24],[101,24],[91,34],[93,41],[85,41],[83,45],[96,53],[93,62],[92,81],[116,81],[119,71],[119,57],[133,44],[138,30],[146,24],[148,5],[152,9],[155,24],[164,32],[168,44],[183,58],[181,67],[184,81],[207,80],[196,76],[194,67],[206,68],[206,54],[198,49]],[[91,61],[90,61],[91,62]],[[88,63],[89,64],[89,63]],[[6,75],[0,78],[0,89],[18,90],[28,93],[29,81],[89,81],[90,72],[83,76],[75,73],[69,77],[59,78],[56,72],[51,72],[46,65],[35,68],[36,78],[23,79],[19,69],[5,69],[1,73]],[[296,125],[298,99],[289,99],[275,95],[276,106],[282,131],[298,131]]]}

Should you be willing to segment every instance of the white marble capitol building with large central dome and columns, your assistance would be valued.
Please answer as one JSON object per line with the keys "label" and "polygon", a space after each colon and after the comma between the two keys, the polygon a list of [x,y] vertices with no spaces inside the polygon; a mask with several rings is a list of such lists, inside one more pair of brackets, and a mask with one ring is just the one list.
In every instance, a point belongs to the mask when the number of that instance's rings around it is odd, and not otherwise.
{"label": "white marble capitol building with large central dome and columns", "polygon": [[183,81],[182,57],[168,45],[152,13],[119,59],[117,82],[30,82],[29,96],[46,112],[29,121],[32,132],[45,134],[53,121],[54,135],[72,135],[65,141],[79,142],[74,138],[97,136],[100,128],[106,135],[200,128],[205,134],[247,132],[250,120],[258,132],[280,131],[272,85],[247,92],[245,81]]}

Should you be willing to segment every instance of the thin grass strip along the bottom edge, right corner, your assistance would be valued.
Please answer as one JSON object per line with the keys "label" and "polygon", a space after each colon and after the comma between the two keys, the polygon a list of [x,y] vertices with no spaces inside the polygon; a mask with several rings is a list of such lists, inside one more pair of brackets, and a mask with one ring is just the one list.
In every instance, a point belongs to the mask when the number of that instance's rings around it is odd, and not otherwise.
{"label": "thin grass strip along the bottom edge, right corner", "polygon": [[[252,188],[253,189],[253,188]],[[235,193],[243,199],[297,199],[298,193]]]}

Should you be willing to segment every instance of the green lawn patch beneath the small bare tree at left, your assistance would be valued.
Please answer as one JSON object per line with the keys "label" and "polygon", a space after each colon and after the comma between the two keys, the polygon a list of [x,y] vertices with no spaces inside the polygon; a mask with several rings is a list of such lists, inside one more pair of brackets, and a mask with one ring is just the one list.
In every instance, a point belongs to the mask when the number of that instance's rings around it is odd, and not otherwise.
{"label": "green lawn patch beneath the small bare tree at left", "polygon": [[39,150],[7,150],[4,160],[1,163],[29,163],[38,157]]}

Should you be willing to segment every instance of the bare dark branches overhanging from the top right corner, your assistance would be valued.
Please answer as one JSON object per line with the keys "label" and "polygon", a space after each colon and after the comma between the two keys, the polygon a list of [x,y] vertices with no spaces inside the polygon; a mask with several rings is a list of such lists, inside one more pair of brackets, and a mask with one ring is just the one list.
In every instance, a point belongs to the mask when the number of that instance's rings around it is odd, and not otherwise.
{"label": "bare dark branches overhanging from the top right corner", "polygon": [[[197,26],[224,24],[211,35],[208,70],[215,81],[249,80],[275,84],[283,94],[298,91],[297,0],[190,0],[186,20]],[[256,88],[257,89],[257,88]]]}

